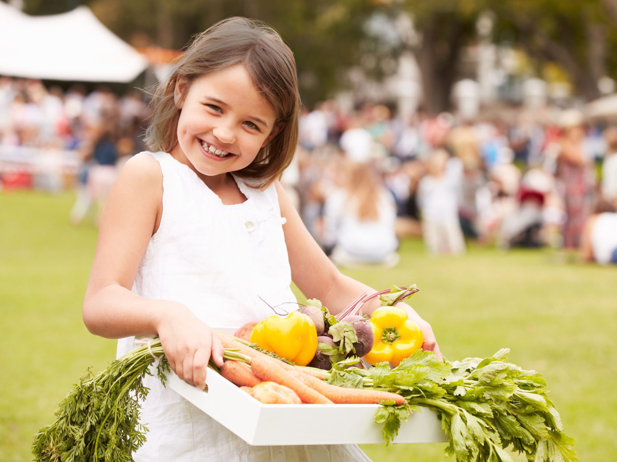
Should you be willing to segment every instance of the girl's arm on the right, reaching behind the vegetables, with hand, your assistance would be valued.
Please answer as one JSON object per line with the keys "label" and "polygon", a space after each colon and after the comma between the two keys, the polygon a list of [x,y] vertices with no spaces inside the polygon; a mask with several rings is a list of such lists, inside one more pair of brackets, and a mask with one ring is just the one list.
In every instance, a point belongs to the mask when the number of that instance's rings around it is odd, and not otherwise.
{"label": "girl's arm on the right, reaching behind the vegetables, with hand", "polygon": [[[353,302],[358,295],[365,292],[366,294],[377,292],[372,287],[345,276],[334,266],[302,223],[302,219],[281,184],[278,181],[275,184],[281,216],[287,219],[283,231],[289,254],[291,278],[300,291],[310,298],[321,300],[321,303],[335,315]],[[363,305],[362,312],[370,315],[379,306],[381,304],[378,299],[370,300]],[[424,335],[422,348],[436,352],[441,358],[431,326],[407,303],[397,303],[397,307],[407,311],[409,318],[420,326]]]}

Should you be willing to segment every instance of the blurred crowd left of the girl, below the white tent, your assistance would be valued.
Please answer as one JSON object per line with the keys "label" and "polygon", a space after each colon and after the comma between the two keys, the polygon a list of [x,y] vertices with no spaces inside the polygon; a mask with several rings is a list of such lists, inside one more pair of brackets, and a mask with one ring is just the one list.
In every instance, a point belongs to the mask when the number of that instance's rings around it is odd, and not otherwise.
{"label": "blurred crowd left of the girl, below the white tent", "polygon": [[[144,100],[136,89],[118,97],[106,86],[89,93],[83,85],[64,91],[46,88],[39,80],[0,76],[0,148],[33,155],[35,163],[44,163],[46,153],[56,150],[77,152],[81,162],[70,220],[77,224],[91,212],[98,221],[122,163],[147,149],[142,136],[149,109]],[[15,155],[10,163],[16,163]],[[32,177],[33,171],[15,167],[2,171],[5,187],[28,186]]]}

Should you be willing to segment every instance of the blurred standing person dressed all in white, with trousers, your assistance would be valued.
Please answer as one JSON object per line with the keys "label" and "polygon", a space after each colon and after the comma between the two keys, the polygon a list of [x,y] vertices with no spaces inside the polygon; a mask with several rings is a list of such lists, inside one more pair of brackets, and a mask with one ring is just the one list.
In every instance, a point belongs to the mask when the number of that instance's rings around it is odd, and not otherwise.
{"label": "blurred standing person dressed all in white, with trousers", "polygon": [[[422,218],[422,235],[429,254],[462,255],[465,240],[458,220],[461,169],[437,149],[426,159],[427,175],[418,184],[416,200]],[[453,162],[454,161],[454,162]]]}

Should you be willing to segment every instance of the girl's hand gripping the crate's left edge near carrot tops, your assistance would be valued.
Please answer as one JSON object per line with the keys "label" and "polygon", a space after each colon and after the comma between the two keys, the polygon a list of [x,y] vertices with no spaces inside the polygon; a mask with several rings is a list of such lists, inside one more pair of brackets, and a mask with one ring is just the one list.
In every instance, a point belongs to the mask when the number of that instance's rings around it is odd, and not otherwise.
{"label": "girl's hand gripping the crate's left edge near carrot tops", "polygon": [[223,365],[223,345],[217,334],[181,303],[168,302],[157,321],[157,333],[169,365],[178,377],[205,388],[210,356]]}

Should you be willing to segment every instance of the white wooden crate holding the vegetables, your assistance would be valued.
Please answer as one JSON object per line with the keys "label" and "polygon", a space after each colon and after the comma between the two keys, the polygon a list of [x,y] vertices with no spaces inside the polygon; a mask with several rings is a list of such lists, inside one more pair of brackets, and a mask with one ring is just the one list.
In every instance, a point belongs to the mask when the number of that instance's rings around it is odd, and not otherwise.
{"label": "white wooden crate holding the vegetables", "polygon": [[[233,333],[235,328],[217,328]],[[375,423],[376,404],[263,404],[230,381],[207,371],[207,392],[167,376],[167,386],[207,415],[254,446],[313,444],[381,444],[381,424]],[[241,416],[241,418],[240,418]],[[336,422],[352,423],[333,426]],[[330,423],[324,425],[324,423]],[[433,410],[422,408],[401,423],[395,443],[447,441]]]}

